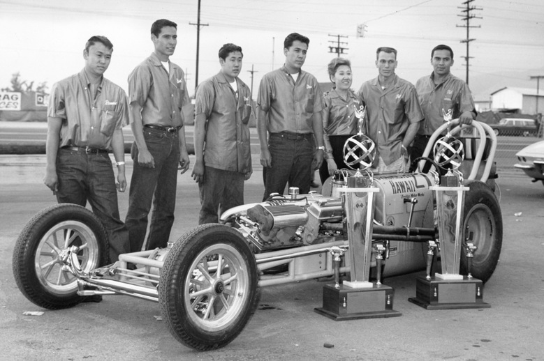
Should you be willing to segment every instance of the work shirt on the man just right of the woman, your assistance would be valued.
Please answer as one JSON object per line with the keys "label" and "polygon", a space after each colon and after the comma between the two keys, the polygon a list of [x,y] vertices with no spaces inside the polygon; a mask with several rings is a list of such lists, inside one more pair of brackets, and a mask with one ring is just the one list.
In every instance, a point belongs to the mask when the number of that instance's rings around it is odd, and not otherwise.
{"label": "work shirt on the man just right of the woman", "polygon": [[389,165],[401,157],[409,125],[423,119],[416,88],[395,75],[392,84],[382,90],[376,77],[362,84],[358,96],[366,106],[365,128],[376,144],[376,159],[380,155]]}

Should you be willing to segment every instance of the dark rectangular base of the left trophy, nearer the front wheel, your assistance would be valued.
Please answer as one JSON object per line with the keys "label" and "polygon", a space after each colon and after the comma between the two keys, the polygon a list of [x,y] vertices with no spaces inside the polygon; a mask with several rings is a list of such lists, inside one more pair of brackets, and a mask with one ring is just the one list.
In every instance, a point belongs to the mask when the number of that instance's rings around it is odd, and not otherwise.
{"label": "dark rectangular base of the left trophy, nearer the front wheel", "polygon": [[343,284],[337,289],[326,284],[323,307],[314,311],[335,321],[400,316],[401,313],[393,309],[393,293],[390,286],[383,284],[357,289]]}

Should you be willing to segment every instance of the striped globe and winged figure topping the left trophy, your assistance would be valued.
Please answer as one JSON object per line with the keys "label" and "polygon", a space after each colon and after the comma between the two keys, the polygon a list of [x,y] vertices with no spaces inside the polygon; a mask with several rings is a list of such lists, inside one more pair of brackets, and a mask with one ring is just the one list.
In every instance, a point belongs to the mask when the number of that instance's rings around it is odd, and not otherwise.
{"label": "striped globe and winged figure topping the left trophy", "polygon": [[355,108],[355,118],[358,119],[358,133],[346,140],[344,143],[344,162],[351,169],[357,169],[355,176],[360,176],[359,170],[366,170],[372,167],[376,158],[376,146],[374,141],[363,132],[365,125],[365,107],[361,105]]}

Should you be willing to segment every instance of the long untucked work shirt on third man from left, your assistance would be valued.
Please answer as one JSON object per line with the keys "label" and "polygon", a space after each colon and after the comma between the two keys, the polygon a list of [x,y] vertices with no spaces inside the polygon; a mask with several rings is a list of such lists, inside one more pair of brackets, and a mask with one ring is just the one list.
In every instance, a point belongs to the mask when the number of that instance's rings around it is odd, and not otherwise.
{"label": "long untucked work shirt on third man from left", "polygon": [[195,114],[206,116],[206,167],[245,174],[251,170],[251,92],[240,79],[237,89],[235,93],[222,72],[205,80],[196,91]]}

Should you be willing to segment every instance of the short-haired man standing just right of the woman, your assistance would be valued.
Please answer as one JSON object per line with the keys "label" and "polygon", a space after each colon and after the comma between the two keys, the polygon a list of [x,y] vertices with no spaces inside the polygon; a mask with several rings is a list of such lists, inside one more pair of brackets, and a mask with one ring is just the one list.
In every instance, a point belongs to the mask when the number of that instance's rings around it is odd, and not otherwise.
{"label": "short-haired man standing just right of the woman", "polygon": [[397,50],[378,47],[378,77],[362,84],[358,93],[366,105],[367,136],[376,144],[372,171],[378,173],[406,171],[409,167],[407,149],[418,131],[423,115],[416,89],[395,75]]}

